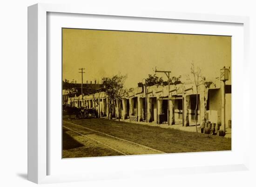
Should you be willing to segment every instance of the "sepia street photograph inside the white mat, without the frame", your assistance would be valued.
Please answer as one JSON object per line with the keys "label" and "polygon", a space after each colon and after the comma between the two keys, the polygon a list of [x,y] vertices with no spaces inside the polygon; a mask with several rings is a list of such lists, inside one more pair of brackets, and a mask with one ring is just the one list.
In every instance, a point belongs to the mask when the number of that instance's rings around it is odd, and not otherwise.
{"label": "sepia street photograph inside the white mat, without the frame", "polygon": [[230,151],[231,40],[62,28],[62,158]]}

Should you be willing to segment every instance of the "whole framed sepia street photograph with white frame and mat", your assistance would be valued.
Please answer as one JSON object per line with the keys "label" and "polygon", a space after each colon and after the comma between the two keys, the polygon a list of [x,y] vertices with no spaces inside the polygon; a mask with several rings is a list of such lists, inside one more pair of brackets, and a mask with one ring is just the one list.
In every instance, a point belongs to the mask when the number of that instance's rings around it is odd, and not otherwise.
{"label": "whole framed sepia street photograph with white frame and mat", "polygon": [[248,28],[242,16],[29,6],[28,179],[247,170]]}

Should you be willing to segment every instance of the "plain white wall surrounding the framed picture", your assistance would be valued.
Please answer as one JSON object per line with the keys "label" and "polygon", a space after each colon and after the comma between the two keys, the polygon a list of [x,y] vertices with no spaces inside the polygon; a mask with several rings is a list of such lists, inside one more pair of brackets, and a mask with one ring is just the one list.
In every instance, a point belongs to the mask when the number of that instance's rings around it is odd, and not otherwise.
{"label": "plain white wall surrounding the framed picture", "polygon": [[[78,3],[86,6],[125,6],[127,9],[149,8],[156,10],[192,13],[217,13],[250,16],[250,61],[249,77],[254,77],[256,70],[256,5],[253,0],[2,0],[0,4],[0,183],[3,187],[31,187],[34,183],[26,181],[27,174],[27,6],[37,2]],[[253,63],[254,62],[254,63]],[[250,75],[249,75],[250,73]],[[250,84],[251,93],[255,82]],[[249,87],[248,87],[249,89]],[[8,95],[8,96],[7,96]],[[12,99],[8,99],[12,98]],[[16,99],[13,99],[16,98]],[[18,101],[18,104],[17,104]],[[236,101],[235,101],[236,102]],[[255,108],[255,97],[250,98],[251,118]],[[15,111],[13,112],[13,108]],[[251,122],[255,120],[251,119]],[[256,132],[251,125],[250,132]],[[252,143],[256,136],[251,136]],[[255,147],[254,144],[251,147]],[[251,151],[251,171],[213,174],[171,175],[161,178],[91,181],[67,184],[44,185],[52,187],[76,186],[256,186],[256,153]],[[211,182],[209,182],[211,181]]]}

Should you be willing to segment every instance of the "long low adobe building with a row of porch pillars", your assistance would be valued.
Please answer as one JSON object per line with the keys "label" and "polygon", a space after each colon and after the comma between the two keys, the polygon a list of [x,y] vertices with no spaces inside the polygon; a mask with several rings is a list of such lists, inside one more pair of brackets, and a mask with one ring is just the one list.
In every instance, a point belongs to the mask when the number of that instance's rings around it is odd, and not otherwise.
{"label": "long low adobe building with a row of porch pillars", "polygon": [[170,85],[169,93],[168,85],[149,86],[147,90],[145,87],[136,87],[130,89],[119,102],[115,100],[110,103],[108,96],[104,92],[100,92],[84,96],[84,105],[82,105],[81,96],[70,98],[67,103],[70,104],[74,100],[73,106],[94,108],[101,116],[108,116],[109,110],[111,110],[113,117],[120,116],[123,120],[162,124],[167,123],[169,117],[170,125],[191,126],[195,125],[195,121],[197,121],[197,125],[209,121],[219,124],[220,129],[223,130],[223,114],[226,116],[226,128],[231,120],[230,83],[231,81],[226,82],[225,93],[224,83],[219,79],[215,83],[201,84],[198,87],[197,112],[195,111],[195,84]]}

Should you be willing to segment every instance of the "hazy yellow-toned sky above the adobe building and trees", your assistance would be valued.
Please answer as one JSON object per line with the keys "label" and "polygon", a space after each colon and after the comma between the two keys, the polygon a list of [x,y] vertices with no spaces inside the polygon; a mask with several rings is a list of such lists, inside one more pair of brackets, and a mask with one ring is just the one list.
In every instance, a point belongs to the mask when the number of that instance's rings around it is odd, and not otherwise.
{"label": "hazy yellow-toned sky above the adobe building and trees", "polygon": [[[127,88],[136,87],[155,68],[189,81],[191,63],[206,80],[215,80],[223,66],[231,68],[231,37],[63,28],[62,63],[63,80],[77,83],[79,68],[85,68],[84,83],[120,73],[128,76]],[[167,80],[164,73],[156,75]]]}

